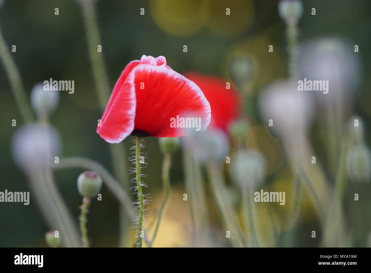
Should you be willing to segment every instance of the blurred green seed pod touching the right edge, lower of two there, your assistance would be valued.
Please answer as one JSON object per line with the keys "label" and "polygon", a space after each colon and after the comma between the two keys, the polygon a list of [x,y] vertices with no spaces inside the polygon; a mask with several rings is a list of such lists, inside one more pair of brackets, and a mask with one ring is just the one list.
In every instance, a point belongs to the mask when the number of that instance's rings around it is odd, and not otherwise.
{"label": "blurred green seed pod touching the right edge, lower of two there", "polygon": [[369,182],[371,178],[371,152],[365,145],[356,145],[347,153],[349,178],[356,182]]}

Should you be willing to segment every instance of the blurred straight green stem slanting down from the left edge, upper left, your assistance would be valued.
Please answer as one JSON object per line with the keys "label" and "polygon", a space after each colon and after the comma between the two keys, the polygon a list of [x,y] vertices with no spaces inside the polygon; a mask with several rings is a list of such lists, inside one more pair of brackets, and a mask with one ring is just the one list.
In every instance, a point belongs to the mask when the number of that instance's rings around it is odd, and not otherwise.
{"label": "blurred straight green stem slanting down from the left edge, upper left", "polygon": [[22,79],[17,69],[17,65],[10,55],[3,33],[0,29],[0,58],[3,62],[6,73],[8,74],[10,86],[12,87],[13,96],[16,100],[18,110],[25,122],[34,121],[34,115],[27,99]]}

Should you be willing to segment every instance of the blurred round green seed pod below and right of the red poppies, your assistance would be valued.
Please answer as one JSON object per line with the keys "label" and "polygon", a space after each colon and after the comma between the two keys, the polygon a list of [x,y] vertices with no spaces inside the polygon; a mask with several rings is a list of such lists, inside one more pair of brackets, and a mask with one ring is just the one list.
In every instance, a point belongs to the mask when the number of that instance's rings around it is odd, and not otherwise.
{"label": "blurred round green seed pod below and right of the red poppies", "polygon": [[234,155],[231,163],[234,176],[241,186],[255,185],[265,177],[265,159],[257,150],[239,151]]}

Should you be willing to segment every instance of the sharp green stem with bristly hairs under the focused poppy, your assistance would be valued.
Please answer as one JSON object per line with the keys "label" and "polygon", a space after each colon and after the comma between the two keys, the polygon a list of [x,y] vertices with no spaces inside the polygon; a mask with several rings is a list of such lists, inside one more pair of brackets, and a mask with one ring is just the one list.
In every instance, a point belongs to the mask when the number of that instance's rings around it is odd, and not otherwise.
{"label": "sharp green stem with bristly hairs under the focused poppy", "polygon": [[[133,154],[134,155],[130,156],[129,160],[132,162],[132,164],[135,165],[135,167],[129,168],[129,173],[130,174],[135,173],[135,178],[132,178],[130,180],[130,183],[136,184],[135,186],[131,187],[131,189],[134,189],[133,194],[137,194],[138,196],[138,200],[136,202],[133,202],[133,204],[135,205],[135,208],[139,210],[139,216],[134,217],[132,222],[133,222],[134,227],[137,229],[137,234],[135,235],[135,237],[137,238],[136,245],[137,247],[142,247],[142,239],[144,238],[144,240],[146,240],[144,229],[143,229],[143,225],[145,223],[144,211],[148,209],[144,207],[145,205],[149,204],[150,199],[149,199],[149,194],[143,194],[142,187],[148,187],[148,185],[144,183],[141,178],[142,177],[147,178],[148,175],[145,175],[141,172],[141,169],[145,168],[145,166],[141,166],[141,164],[147,164],[145,160],[148,159],[148,157],[147,157],[147,153],[142,153],[140,151],[141,148],[145,147],[144,145],[145,141],[142,140],[141,137],[136,137],[135,139],[132,139],[131,143],[133,144],[135,143],[135,145],[133,145],[130,148],[130,150],[135,150],[135,151],[131,153],[131,155]],[[144,234],[142,234],[142,232]]]}

